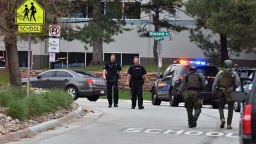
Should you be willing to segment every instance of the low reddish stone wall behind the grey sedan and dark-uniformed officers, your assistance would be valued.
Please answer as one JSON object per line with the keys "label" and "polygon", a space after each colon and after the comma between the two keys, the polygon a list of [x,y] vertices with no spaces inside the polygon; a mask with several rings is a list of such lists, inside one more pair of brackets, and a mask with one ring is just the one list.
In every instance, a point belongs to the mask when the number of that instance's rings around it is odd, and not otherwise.
{"label": "low reddish stone wall behind the grey sedan and dark-uniformed officers", "polygon": [[[30,70],[30,77],[36,77],[38,74],[41,74],[43,72],[43,70]],[[21,73],[21,78],[26,78],[27,77],[27,70],[20,70]],[[91,71],[91,73],[102,77],[102,72],[99,71]],[[155,77],[156,73],[148,73],[147,77],[148,77],[148,84],[144,84],[143,85],[143,90],[151,90],[152,85],[154,84],[154,82],[156,81],[156,77]],[[119,90],[130,90],[129,86],[126,85],[126,78],[127,78],[127,73],[123,72],[122,73],[122,77],[123,77],[123,83],[119,84]]]}

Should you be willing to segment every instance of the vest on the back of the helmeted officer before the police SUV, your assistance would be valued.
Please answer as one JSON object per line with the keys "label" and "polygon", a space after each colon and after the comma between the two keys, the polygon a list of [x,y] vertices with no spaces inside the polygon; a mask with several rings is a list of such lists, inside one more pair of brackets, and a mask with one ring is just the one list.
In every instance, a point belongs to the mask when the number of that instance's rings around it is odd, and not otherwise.
{"label": "vest on the back of the helmeted officer before the police SUV", "polygon": [[187,90],[201,90],[202,84],[198,72],[187,73],[186,81]]}

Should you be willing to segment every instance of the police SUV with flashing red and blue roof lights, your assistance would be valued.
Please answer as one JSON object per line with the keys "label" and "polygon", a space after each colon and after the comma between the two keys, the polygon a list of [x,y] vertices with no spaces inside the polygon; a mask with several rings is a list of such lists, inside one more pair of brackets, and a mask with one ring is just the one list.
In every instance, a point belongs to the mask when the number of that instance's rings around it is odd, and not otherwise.
{"label": "police SUV with flashing red and blue roof lights", "polygon": [[[177,107],[180,102],[184,102],[183,98],[177,97],[176,93],[179,90],[183,75],[189,71],[188,63],[187,61],[174,61],[162,75],[156,74],[158,79],[150,90],[153,105],[159,106],[161,101],[170,101],[171,106]],[[205,78],[206,87],[202,90],[204,105],[208,104],[212,105],[213,108],[218,108],[217,97],[212,96],[212,84],[219,72],[218,68],[197,61],[197,71],[203,74]]]}

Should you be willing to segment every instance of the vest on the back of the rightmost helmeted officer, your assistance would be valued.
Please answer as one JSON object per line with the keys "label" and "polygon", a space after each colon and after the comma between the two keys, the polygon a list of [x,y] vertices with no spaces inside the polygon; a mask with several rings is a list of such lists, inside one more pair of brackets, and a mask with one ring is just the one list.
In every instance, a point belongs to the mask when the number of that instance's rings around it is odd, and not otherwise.
{"label": "vest on the back of the rightmost helmeted officer", "polygon": [[219,85],[223,88],[228,88],[231,86],[231,83],[234,83],[235,77],[233,75],[233,71],[231,73],[229,71],[223,70],[221,72],[222,76],[219,81]]}

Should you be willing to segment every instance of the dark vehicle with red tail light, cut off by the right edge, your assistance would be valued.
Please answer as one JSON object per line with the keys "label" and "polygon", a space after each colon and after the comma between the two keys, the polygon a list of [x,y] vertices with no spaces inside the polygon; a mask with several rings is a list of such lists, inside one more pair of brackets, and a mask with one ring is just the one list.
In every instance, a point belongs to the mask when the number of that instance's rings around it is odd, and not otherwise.
{"label": "dark vehicle with red tail light, cut off by the right edge", "polygon": [[249,78],[241,78],[241,83],[248,93],[243,90],[231,93],[232,100],[244,102],[239,121],[239,143],[256,143],[256,74],[252,82]]}

